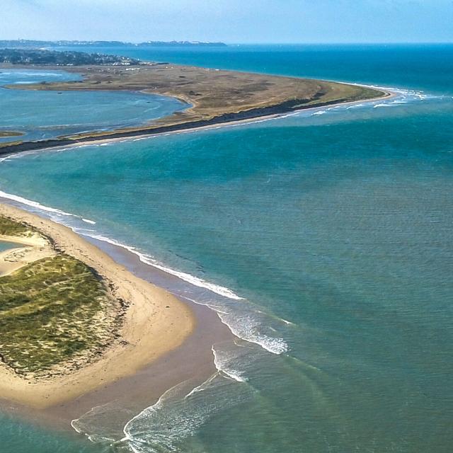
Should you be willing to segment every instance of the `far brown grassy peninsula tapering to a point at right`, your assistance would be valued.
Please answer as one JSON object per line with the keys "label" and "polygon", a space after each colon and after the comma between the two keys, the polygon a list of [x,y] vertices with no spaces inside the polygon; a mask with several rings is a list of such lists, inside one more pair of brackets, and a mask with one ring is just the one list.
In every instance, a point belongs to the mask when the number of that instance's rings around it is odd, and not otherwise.
{"label": "far brown grassy peninsula tapering to a point at right", "polygon": [[[36,51],[35,51],[36,52]],[[0,64],[1,68],[62,69],[61,66]],[[365,86],[314,79],[297,79],[267,74],[206,69],[178,64],[64,65],[64,70],[81,74],[81,81],[11,85],[7,88],[54,91],[142,91],[173,96],[189,107],[147,125],[117,130],[86,132],[37,142],[0,144],[0,154],[47,149],[122,137],[139,137],[163,132],[190,130],[229,122],[253,120],[306,108],[365,101],[390,96]]]}

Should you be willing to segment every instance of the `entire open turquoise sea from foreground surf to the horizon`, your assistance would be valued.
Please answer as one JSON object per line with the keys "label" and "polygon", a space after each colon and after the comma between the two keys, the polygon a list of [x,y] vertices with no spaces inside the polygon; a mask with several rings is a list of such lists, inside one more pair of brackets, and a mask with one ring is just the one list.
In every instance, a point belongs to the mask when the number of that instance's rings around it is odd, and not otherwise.
{"label": "entire open turquoise sea from foreground surf to the horizon", "polygon": [[105,408],[75,423],[94,444],[10,419],[0,437],[20,453],[103,451],[125,435],[135,452],[450,452],[453,46],[159,55],[401,90],[2,161],[6,195],[185,273],[175,292],[212,306],[240,339],[214,345],[221,371],[201,391],[168,391],[113,437]]}

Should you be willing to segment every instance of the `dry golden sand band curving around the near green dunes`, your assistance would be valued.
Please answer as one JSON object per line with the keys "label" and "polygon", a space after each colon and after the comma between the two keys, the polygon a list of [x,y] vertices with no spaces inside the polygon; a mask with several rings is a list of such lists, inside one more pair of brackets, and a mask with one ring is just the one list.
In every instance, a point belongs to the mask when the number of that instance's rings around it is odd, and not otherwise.
{"label": "dry golden sand band curving around the near green dunes", "polygon": [[55,248],[84,262],[115,286],[118,297],[130,302],[120,338],[96,362],[39,380],[24,379],[0,365],[0,399],[38,409],[72,401],[132,376],[178,348],[194,331],[195,317],[187,305],[166,290],[135,277],[66,226],[4,204],[0,204],[0,215],[33,226]]}

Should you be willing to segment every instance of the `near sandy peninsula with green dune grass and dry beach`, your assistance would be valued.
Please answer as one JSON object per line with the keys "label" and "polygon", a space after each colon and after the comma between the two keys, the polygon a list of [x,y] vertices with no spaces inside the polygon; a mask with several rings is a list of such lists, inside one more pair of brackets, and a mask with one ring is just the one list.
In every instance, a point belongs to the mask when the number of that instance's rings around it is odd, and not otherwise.
{"label": "near sandy peninsula with green dune grass and dry beach", "polygon": [[0,399],[69,401],[134,374],[193,330],[188,306],[65,226],[0,205],[0,241]]}

